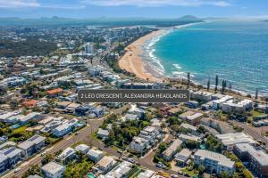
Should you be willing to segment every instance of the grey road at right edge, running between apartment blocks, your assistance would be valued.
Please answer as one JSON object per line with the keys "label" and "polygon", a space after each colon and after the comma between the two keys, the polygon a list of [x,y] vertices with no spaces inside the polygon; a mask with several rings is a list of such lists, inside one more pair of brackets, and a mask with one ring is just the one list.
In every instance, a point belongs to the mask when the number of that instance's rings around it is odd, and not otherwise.
{"label": "grey road at right edge, running between apartment blocks", "polygon": [[254,128],[251,128],[250,125],[247,125],[245,123],[240,123],[236,120],[230,120],[230,123],[233,125],[242,127],[244,129],[243,131],[246,134],[249,134],[250,136],[252,136],[255,139],[255,141],[260,140],[266,144],[266,147],[268,146],[268,139],[265,138],[261,133],[257,132]]}

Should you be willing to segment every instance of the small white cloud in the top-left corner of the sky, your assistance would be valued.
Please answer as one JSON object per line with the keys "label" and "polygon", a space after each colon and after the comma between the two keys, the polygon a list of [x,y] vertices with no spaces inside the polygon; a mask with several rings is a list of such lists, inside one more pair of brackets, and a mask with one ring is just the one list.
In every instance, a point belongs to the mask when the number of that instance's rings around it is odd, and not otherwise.
{"label": "small white cloud in the top-left corner of the sky", "polygon": [[37,0],[0,0],[0,8],[38,7]]}

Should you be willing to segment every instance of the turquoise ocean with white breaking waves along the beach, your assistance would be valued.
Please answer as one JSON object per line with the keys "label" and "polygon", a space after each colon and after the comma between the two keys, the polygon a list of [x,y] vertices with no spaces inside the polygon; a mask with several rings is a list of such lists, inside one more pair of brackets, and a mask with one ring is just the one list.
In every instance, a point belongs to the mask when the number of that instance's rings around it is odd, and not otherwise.
{"label": "turquoise ocean with white breaking waves along the beach", "polygon": [[[170,29],[146,45],[158,73],[200,85],[219,76],[243,93],[268,93],[268,22],[215,20]],[[148,59],[148,58],[147,58]]]}

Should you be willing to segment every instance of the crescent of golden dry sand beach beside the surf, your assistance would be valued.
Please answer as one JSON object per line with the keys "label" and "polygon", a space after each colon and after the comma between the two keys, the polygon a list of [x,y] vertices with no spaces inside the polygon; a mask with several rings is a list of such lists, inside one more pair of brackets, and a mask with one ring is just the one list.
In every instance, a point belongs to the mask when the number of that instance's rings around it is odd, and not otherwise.
{"label": "crescent of golden dry sand beach beside the surf", "polygon": [[157,75],[154,69],[150,67],[145,61],[142,59],[143,54],[143,44],[148,40],[151,40],[155,36],[160,36],[163,34],[164,30],[154,31],[147,36],[142,36],[138,38],[137,41],[130,44],[126,47],[126,53],[121,57],[119,61],[119,66],[121,69],[125,69],[133,74],[136,77],[142,78],[144,80],[149,79],[150,82],[162,82],[163,79]]}

